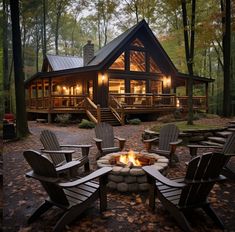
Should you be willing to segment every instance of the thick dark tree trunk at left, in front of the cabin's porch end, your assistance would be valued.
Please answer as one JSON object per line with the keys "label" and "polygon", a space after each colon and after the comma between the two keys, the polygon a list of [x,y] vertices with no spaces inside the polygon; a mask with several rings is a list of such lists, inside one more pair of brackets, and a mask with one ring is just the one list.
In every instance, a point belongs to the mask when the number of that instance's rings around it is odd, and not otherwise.
{"label": "thick dark tree trunk at left, in front of the cabin's porch end", "polygon": [[11,22],[12,22],[12,45],[15,74],[15,95],[16,95],[16,132],[19,138],[29,133],[26,108],[24,72],[21,50],[21,32],[19,22],[19,1],[10,0]]}

